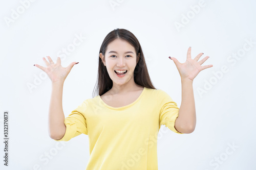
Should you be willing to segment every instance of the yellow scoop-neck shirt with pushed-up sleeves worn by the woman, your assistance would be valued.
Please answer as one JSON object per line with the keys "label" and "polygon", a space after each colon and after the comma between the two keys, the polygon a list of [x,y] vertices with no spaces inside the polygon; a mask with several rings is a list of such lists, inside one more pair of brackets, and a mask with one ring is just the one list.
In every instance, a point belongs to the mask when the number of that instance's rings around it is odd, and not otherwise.
{"label": "yellow scoop-neck shirt with pushed-up sleeves worn by the woman", "polygon": [[157,170],[157,134],[161,125],[182,134],[174,128],[178,112],[177,104],[160,89],[144,87],[136,101],[118,108],[97,95],[65,118],[66,133],[56,141],[88,135],[86,170]]}

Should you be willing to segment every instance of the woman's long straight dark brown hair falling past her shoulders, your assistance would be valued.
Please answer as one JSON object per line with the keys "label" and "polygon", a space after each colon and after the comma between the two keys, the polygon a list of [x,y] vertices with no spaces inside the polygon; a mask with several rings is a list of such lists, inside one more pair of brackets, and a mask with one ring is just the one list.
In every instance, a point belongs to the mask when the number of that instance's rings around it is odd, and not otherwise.
{"label": "woman's long straight dark brown hair falling past her shoulders", "polygon": [[[136,58],[138,59],[139,57],[139,61],[134,69],[134,82],[143,87],[156,89],[151,82],[150,75],[148,74],[145,58],[144,58],[140,43],[138,39],[134,36],[134,34],[131,33],[130,31],[125,29],[115,29],[111,31],[104,38],[100,46],[99,54],[102,53],[102,55],[105,56],[106,47],[110,42],[114,41],[117,38],[125,40],[129,42],[131,45],[133,45],[136,51]],[[138,56],[139,53],[140,53],[140,56]],[[105,92],[109,91],[113,86],[113,81],[111,80],[108,74],[108,70],[106,70],[106,67],[104,66],[100,57],[99,57],[98,63],[99,63],[98,76],[97,76],[97,82],[95,84],[97,86],[96,86],[96,89],[94,87],[93,98],[94,96],[96,96],[96,94],[97,95],[104,94]]]}

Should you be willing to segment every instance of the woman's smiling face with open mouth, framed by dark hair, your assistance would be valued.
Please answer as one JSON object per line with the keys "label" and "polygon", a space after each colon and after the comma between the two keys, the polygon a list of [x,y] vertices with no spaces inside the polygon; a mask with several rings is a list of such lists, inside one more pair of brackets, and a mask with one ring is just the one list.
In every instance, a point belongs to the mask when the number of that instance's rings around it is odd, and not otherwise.
{"label": "woman's smiling face with open mouth, framed by dark hair", "polygon": [[[103,55],[100,53],[100,58]],[[130,85],[134,83],[134,69],[136,67],[135,48],[127,41],[119,38],[115,39],[106,47],[105,61],[102,60],[109,76],[113,81],[113,85]],[[118,76],[116,70],[127,70],[123,76]]]}

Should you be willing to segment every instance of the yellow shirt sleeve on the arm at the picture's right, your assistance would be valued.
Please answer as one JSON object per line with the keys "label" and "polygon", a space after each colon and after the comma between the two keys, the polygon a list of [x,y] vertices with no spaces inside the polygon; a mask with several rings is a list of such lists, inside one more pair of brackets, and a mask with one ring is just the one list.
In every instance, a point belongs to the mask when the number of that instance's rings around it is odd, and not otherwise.
{"label": "yellow shirt sleeve on the arm at the picture's right", "polygon": [[175,121],[179,115],[179,108],[172,98],[163,90],[159,89],[158,93],[158,106],[160,108],[159,113],[159,129],[161,125],[169,128],[175,133],[183,134],[175,129]]}

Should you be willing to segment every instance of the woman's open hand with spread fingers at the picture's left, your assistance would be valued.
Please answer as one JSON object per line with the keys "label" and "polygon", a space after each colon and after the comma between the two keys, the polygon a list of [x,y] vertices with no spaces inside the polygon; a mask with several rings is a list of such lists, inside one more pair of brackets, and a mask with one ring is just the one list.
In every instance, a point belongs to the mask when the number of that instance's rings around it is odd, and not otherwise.
{"label": "woman's open hand with spread fingers at the picture's left", "polygon": [[75,65],[78,64],[77,62],[72,62],[68,67],[64,68],[60,64],[60,58],[57,58],[56,63],[52,61],[51,57],[47,56],[48,60],[50,63],[45,59],[45,57],[42,58],[42,60],[45,61],[47,67],[40,66],[38,64],[35,64],[34,66],[40,68],[41,70],[45,71],[48,77],[51,79],[52,83],[53,82],[64,82],[65,79],[67,78],[71,68]]}

